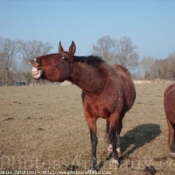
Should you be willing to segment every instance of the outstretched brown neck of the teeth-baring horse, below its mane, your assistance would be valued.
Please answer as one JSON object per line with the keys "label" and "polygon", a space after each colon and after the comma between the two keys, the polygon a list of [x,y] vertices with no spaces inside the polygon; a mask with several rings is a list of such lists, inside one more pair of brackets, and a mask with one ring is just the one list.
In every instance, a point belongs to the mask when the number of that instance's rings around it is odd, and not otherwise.
{"label": "outstretched brown neck of the teeth-baring horse, below its mane", "polygon": [[74,62],[69,81],[87,93],[101,93],[106,82],[102,64]]}

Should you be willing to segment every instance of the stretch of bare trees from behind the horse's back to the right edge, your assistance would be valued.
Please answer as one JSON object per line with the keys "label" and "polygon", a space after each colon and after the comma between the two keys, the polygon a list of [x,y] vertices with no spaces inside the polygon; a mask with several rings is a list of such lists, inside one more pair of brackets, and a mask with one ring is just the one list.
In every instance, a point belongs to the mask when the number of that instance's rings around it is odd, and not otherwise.
{"label": "stretch of bare trees from behind the horse's back to the right edge", "polygon": [[143,57],[139,59],[137,46],[132,43],[130,37],[122,37],[119,40],[104,36],[93,45],[94,55],[101,56],[111,63],[121,64],[133,73],[133,78],[138,79],[169,79],[175,80],[175,51],[164,59]]}

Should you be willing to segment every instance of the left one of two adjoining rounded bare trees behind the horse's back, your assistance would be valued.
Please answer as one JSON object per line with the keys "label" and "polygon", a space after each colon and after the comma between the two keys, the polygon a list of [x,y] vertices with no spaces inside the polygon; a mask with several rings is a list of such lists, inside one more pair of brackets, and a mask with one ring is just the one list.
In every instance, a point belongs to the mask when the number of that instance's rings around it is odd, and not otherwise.
{"label": "left one of two adjoining rounded bare trees behind the horse's back", "polygon": [[92,54],[102,57],[105,61],[110,62],[113,58],[114,43],[114,40],[106,35],[97,41],[96,46],[92,46]]}

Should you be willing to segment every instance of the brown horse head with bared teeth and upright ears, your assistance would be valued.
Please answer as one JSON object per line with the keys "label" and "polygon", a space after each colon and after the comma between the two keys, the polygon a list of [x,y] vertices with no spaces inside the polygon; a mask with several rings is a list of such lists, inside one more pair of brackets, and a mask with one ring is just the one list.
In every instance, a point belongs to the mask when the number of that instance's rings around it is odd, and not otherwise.
{"label": "brown horse head with bared teeth and upright ears", "polygon": [[33,66],[32,77],[34,79],[47,79],[55,82],[63,82],[70,76],[70,63],[74,60],[76,51],[75,43],[72,41],[69,51],[64,51],[61,42],[59,53],[37,57],[29,63]]}

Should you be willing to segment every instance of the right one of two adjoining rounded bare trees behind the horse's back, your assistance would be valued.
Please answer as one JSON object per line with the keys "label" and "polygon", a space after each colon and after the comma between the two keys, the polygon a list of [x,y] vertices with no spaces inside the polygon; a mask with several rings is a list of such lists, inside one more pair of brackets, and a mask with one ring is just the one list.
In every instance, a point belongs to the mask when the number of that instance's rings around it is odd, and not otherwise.
{"label": "right one of two adjoining rounded bare trees behind the horse's back", "polygon": [[136,52],[137,47],[132,44],[129,37],[123,37],[116,40],[114,44],[115,58],[118,64],[121,64],[129,69],[138,66],[139,55]]}

